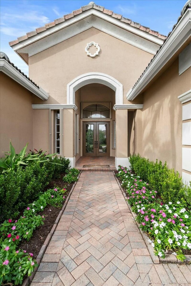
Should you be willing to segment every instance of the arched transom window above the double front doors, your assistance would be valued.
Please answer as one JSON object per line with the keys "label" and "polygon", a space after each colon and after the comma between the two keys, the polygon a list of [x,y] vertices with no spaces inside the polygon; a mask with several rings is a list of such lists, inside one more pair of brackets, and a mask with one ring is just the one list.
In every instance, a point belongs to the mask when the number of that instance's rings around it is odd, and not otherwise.
{"label": "arched transom window above the double front doors", "polygon": [[110,110],[103,105],[92,104],[83,109],[83,118],[110,118]]}

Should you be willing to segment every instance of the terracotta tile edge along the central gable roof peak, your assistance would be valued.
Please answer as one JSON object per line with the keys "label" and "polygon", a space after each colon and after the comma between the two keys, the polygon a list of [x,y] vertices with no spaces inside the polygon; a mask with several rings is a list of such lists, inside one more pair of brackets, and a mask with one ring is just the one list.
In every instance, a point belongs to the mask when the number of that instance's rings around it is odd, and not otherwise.
{"label": "terracotta tile edge along the central gable roof peak", "polygon": [[130,26],[133,26],[133,27],[135,27],[137,29],[145,31],[145,32],[147,32],[147,33],[149,33],[151,35],[154,35],[154,36],[162,39],[162,40],[165,40],[167,38],[166,36],[159,34],[159,32],[157,32],[157,31],[153,31],[150,28],[144,27],[141,24],[133,22],[132,20],[130,20],[128,18],[124,18],[120,14],[113,13],[113,11],[111,11],[111,10],[107,10],[107,9],[105,9],[102,6],[96,5],[94,2],[90,2],[88,5],[82,6],[80,9],[74,10],[70,14],[64,15],[62,18],[58,18],[58,19],[54,20],[53,22],[45,24],[45,26],[37,28],[35,31],[28,32],[26,35],[17,38],[17,40],[9,42],[9,44],[10,44],[10,46],[13,46],[13,45],[15,45],[15,44],[17,44],[17,43],[19,43],[21,41],[24,41],[24,40],[26,40],[26,39],[34,36],[34,35],[37,35],[38,33],[43,32],[43,31],[45,31],[45,30],[47,30],[47,29],[49,29],[49,28],[51,28],[51,27],[53,27],[55,25],[58,25],[58,24],[60,24],[60,23],[62,23],[64,21],[67,21],[68,19],[73,18],[76,15],[78,15],[80,13],[83,13],[84,11],[89,10],[89,9],[99,10],[99,11],[101,11],[104,14],[110,15],[111,17],[113,17],[115,19],[118,19],[121,22],[126,23],[127,25],[130,25]]}

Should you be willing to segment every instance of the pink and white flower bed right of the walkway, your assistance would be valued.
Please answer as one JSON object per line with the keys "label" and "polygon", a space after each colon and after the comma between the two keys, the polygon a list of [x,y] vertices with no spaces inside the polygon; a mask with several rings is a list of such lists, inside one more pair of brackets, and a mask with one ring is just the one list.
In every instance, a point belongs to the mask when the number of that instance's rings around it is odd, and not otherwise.
{"label": "pink and white flower bed right of the walkway", "polygon": [[165,257],[165,253],[173,251],[183,261],[183,252],[191,249],[190,210],[180,201],[163,204],[156,190],[125,167],[119,166],[116,176],[128,194],[136,220],[148,234],[155,255]]}

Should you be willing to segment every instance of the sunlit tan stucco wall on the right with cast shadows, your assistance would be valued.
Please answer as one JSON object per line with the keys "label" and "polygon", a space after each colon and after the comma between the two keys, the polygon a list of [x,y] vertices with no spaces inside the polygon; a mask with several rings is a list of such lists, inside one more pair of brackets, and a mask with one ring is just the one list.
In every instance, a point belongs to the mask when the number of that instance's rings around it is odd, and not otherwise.
{"label": "sunlit tan stucco wall on the right with cast shadows", "polygon": [[[136,153],[167,161],[182,171],[182,105],[178,96],[191,88],[191,68],[178,75],[178,58],[144,92],[142,133],[136,132]],[[137,121],[138,122],[138,121]],[[135,124],[136,127],[136,124]],[[139,144],[142,141],[142,144]],[[142,148],[141,148],[142,145]]]}

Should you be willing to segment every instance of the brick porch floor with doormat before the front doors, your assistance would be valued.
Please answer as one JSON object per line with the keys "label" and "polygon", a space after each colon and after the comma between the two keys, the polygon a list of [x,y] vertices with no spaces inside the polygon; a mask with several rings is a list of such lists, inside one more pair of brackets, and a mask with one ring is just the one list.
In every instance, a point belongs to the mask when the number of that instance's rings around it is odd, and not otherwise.
{"label": "brick porch floor with doormat before the front doors", "polygon": [[[109,165],[109,167],[107,167]],[[76,161],[76,169],[84,171],[115,171],[115,157],[83,156]]]}

